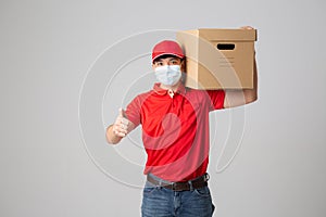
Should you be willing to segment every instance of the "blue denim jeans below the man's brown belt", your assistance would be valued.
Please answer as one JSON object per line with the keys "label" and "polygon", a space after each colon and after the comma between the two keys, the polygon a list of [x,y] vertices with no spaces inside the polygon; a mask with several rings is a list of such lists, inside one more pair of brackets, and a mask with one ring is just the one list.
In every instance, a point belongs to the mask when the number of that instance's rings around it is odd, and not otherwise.
{"label": "blue denim jeans below the man's brown belt", "polygon": [[211,217],[214,212],[209,187],[173,191],[146,182],[142,192],[142,217]]}

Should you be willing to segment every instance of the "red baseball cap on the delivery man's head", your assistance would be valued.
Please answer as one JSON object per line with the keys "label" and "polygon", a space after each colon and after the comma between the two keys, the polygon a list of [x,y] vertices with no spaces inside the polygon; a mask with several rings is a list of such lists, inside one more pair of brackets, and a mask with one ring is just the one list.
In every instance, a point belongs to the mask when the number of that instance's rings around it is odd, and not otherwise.
{"label": "red baseball cap on the delivery man's head", "polygon": [[180,59],[185,58],[184,51],[177,42],[172,40],[163,40],[154,46],[152,51],[152,62],[154,62],[156,58],[165,54],[175,55]]}

